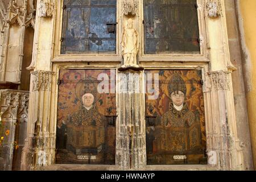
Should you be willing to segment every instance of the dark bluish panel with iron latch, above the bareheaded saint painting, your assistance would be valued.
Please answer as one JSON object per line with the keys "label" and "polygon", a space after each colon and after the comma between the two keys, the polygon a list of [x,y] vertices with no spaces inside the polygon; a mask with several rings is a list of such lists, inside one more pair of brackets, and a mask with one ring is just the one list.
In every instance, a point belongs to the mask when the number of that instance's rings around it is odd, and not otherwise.
{"label": "dark bluish panel with iron latch, above the bareheaded saint painting", "polygon": [[65,0],[62,54],[115,53],[116,0]]}

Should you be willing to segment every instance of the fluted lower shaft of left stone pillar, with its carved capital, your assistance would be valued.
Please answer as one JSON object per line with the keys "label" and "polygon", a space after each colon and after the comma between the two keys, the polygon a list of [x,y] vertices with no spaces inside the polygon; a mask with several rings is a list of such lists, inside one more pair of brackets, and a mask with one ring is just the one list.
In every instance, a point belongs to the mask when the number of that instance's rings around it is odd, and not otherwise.
{"label": "fluted lower shaft of left stone pillar, with its carved capital", "polygon": [[[31,94],[28,110],[27,139],[22,154],[22,170],[38,169],[52,163],[55,135],[49,130],[53,72],[31,73]],[[54,152],[53,152],[54,153]]]}

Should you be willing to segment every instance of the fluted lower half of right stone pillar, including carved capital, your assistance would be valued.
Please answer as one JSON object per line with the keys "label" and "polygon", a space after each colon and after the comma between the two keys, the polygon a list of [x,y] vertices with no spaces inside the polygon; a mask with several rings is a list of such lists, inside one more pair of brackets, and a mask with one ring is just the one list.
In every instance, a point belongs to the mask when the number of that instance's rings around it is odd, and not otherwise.
{"label": "fluted lower half of right stone pillar, including carved capital", "polygon": [[206,124],[209,164],[222,170],[240,170],[243,143],[237,138],[231,72],[208,72],[207,77],[207,107],[212,110]]}

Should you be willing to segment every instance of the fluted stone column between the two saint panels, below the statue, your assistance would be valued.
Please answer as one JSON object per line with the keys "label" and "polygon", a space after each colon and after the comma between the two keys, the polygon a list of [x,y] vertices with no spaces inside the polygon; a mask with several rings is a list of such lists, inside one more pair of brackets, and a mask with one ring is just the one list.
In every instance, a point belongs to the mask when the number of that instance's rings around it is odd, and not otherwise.
{"label": "fluted stone column between the two saint panels, below the statue", "polygon": [[146,166],[146,122],[144,74],[130,69],[117,74],[117,142],[118,167],[125,169]]}

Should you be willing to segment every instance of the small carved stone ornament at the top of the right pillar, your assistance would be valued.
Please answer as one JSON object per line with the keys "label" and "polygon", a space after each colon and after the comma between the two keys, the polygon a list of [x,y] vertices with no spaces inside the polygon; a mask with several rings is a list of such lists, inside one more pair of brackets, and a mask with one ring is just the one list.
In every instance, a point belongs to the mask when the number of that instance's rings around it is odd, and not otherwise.
{"label": "small carved stone ornament at the top of the right pillar", "polygon": [[221,15],[222,7],[220,0],[208,0],[206,13],[210,18],[217,18]]}

